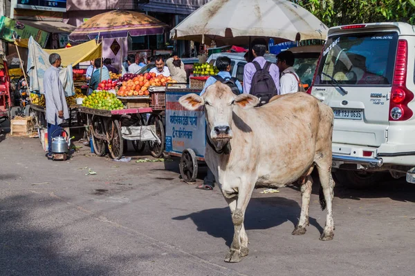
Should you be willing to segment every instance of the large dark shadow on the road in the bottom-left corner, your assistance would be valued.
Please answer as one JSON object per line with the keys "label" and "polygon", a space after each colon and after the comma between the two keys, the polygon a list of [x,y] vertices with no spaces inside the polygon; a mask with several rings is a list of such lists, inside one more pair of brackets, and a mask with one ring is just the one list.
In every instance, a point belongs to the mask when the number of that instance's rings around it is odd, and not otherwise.
{"label": "large dark shadow on the road in the bottom-left corner", "polygon": [[[59,230],[46,230],[33,218],[33,206],[50,208],[56,199],[29,196],[0,201],[0,271],[14,275],[113,275],[105,264],[94,264],[84,250],[66,250]],[[30,204],[30,205],[29,205]],[[66,244],[66,246],[62,246]]]}

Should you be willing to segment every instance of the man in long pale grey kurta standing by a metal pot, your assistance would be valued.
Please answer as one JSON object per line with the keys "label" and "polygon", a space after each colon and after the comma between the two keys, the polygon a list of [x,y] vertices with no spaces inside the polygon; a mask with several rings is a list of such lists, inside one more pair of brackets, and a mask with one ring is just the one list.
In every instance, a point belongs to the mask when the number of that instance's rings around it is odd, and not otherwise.
{"label": "man in long pale grey kurta standing by a metal pot", "polygon": [[[49,62],[52,66],[44,75],[44,88],[46,99],[46,121],[48,122],[48,158],[52,158],[52,138],[59,136],[59,130],[64,119],[69,118],[68,105],[66,104],[64,86],[59,79],[59,67],[62,63],[58,54],[50,54]],[[53,133],[55,132],[55,133]],[[53,136],[52,136],[53,135]]]}

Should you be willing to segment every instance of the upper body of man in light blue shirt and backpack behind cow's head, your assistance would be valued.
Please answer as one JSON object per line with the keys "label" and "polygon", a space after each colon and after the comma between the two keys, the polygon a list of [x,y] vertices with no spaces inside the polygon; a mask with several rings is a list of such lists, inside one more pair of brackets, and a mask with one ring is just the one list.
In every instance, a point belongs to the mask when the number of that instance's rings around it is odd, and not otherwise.
{"label": "upper body of man in light blue shirt and backpack behind cow's head", "polygon": [[237,80],[237,78],[230,75],[230,58],[229,57],[218,57],[216,59],[216,68],[218,68],[218,75],[209,77],[206,80],[205,86],[201,92],[201,95],[205,92],[206,88],[214,84],[216,81],[221,81],[221,83],[226,84],[230,87],[230,90],[234,95],[239,95],[242,93],[242,85]]}

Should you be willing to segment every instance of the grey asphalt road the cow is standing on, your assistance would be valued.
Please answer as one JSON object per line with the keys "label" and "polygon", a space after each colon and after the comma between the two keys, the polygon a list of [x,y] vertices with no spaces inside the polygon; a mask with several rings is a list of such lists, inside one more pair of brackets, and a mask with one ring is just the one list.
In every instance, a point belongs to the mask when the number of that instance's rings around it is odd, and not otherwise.
{"label": "grey asphalt road the cow is standing on", "polygon": [[0,141],[0,275],[414,275],[415,186],[405,181],[336,187],[330,242],[318,239],[317,185],[303,236],[291,235],[297,188],[255,190],[250,254],[228,264],[233,227],[217,188],[183,183],[175,161],[122,163],[88,150],[48,161],[38,139]]}

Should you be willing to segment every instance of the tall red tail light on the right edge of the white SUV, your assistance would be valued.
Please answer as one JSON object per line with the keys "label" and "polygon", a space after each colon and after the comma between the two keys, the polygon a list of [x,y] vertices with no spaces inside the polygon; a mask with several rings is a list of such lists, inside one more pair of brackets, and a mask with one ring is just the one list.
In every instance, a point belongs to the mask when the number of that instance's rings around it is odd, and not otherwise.
{"label": "tall red tail light on the right edge of the white SUV", "polygon": [[407,78],[408,42],[398,41],[394,81],[392,82],[391,101],[389,103],[389,121],[405,121],[414,115],[408,103],[414,99],[414,93],[405,84]]}

